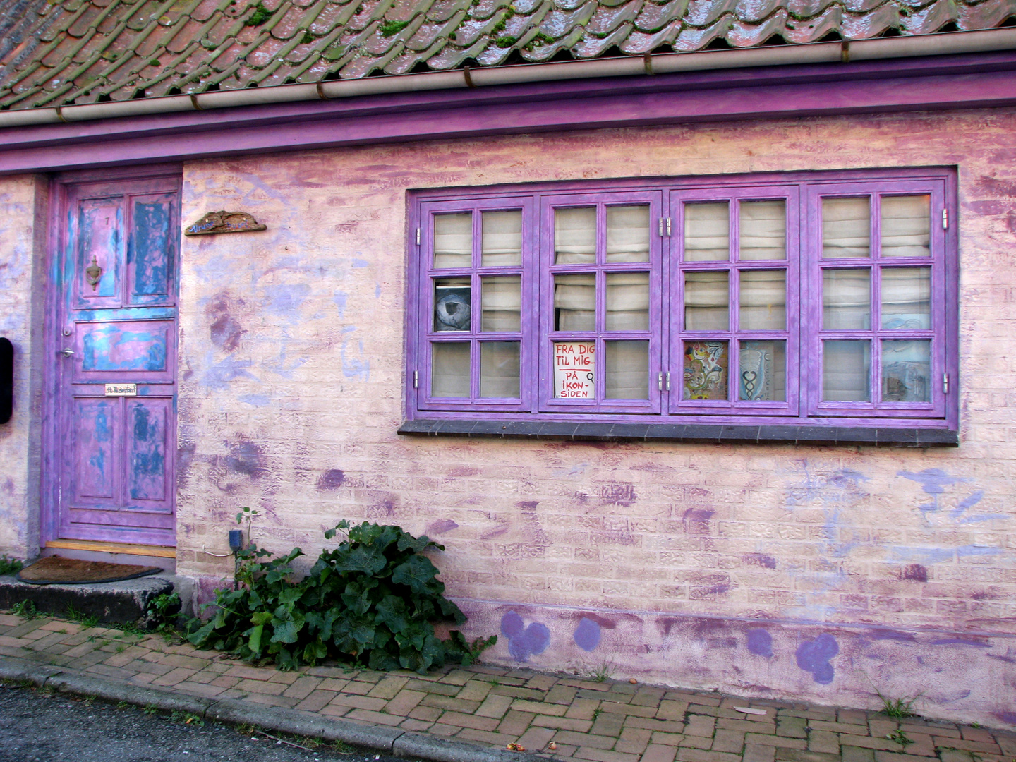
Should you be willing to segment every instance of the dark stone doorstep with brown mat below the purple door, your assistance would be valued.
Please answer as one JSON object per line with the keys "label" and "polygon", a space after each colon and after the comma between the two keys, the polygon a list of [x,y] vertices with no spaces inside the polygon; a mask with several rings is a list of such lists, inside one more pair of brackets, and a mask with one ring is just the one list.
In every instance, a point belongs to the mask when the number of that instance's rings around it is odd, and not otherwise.
{"label": "dark stone doorstep with brown mat below the purple door", "polygon": [[36,611],[67,617],[98,617],[100,622],[133,624],[145,629],[149,622],[148,605],[163,593],[173,592],[176,577],[156,575],[96,584],[30,585],[13,576],[0,576],[0,609],[10,610],[22,600],[30,600]]}

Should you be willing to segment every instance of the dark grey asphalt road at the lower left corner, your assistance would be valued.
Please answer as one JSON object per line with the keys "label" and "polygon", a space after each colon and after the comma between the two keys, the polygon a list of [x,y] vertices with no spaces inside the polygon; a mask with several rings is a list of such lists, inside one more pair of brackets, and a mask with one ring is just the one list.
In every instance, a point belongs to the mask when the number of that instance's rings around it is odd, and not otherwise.
{"label": "dark grey asphalt road at the lower left corner", "polygon": [[258,732],[186,720],[0,683],[0,762],[405,762],[328,744],[305,750]]}

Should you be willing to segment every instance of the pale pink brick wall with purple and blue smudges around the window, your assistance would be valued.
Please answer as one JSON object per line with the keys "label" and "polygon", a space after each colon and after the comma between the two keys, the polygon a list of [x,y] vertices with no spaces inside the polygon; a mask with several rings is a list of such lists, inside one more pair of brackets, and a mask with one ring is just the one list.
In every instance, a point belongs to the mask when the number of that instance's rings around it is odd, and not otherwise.
{"label": "pale pink brick wall with purple and blue smudges around the window", "polygon": [[[268,230],[183,241],[178,573],[231,573],[209,553],[244,505],[259,544],[311,557],[340,518],[397,523],[446,546],[468,634],[502,634],[492,660],[855,705],[924,691],[933,715],[1016,721],[999,669],[1016,658],[1014,156],[1016,111],[993,110],[188,163],[185,225],[241,209]],[[958,449],[395,434],[407,189],[943,165],[959,168]]]}

